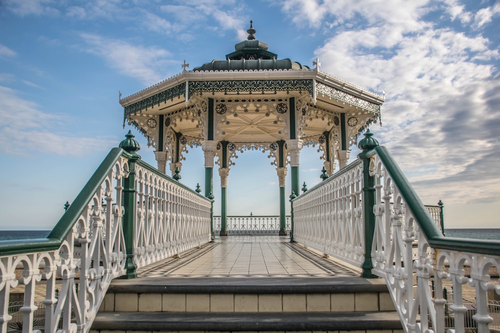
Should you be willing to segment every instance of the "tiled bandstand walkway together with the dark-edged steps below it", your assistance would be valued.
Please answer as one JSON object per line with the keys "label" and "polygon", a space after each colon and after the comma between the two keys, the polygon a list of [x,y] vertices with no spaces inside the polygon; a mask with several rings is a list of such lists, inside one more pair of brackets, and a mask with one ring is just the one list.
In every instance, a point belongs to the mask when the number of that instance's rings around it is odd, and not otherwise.
{"label": "tiled bandstand walkway together with the dark-edged steps below it", "polygon": [[91,332],[403,332],[382,280],[287,236],[214,242],[114,280]]}

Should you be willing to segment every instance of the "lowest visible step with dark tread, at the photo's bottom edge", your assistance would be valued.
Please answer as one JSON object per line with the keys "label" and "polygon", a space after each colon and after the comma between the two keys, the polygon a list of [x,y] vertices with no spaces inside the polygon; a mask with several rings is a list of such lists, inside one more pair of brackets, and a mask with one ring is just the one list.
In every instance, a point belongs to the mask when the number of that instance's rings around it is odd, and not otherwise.
{"label": "lowest visible step with dark tread, at the photo's bottom edge", "polygon": [[165,313],[99,312],[91,333],[121,332],[331,332],[402,333],[394,312]]}

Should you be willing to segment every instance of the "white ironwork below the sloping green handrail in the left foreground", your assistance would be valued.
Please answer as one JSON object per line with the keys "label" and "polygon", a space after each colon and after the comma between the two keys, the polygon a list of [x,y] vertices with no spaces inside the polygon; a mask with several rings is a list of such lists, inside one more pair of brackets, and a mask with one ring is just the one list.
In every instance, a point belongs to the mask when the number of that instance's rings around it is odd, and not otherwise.
{"label": "white ironwork below the sloping green handrail in the left foreground", "polygon": [[[11,288],[24,285],[20,311],[23,332],[32,332],[35,290],[45,287],[44,332],[87,332],[112,279],[125,273],[125,244],[122,231],[122,180],[128,176],[126,159],[118,158],[55,251],[30,251],[0,257],[1,332],[15,327],[8,312]],[[22,267],[22,276],[15,270]],[[77,277],[79,273],[79,277]],[[56,295],[56,280],[58,295]],[[79,287],[76,288],[75,284]]]}

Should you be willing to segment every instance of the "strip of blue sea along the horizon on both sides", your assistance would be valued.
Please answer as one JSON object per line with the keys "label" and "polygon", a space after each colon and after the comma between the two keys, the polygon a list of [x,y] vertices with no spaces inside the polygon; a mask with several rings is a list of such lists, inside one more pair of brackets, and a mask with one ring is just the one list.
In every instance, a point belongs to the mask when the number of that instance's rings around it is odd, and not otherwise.
{"label": "strip of blue sea along the horizon on both sides", "polygon": [[[0,241],[46,238],[50,230],[0,230]],[[500,229],[444,229],[446,237],[500,240]]]}

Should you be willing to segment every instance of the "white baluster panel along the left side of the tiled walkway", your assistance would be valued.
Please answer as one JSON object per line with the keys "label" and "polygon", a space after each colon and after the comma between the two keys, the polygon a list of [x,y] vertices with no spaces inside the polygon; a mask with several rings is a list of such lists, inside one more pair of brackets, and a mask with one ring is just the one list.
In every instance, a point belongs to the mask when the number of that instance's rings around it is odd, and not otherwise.
{"label": "white baluster panel along the left side of the tiled walkway", "polygon": [[210,241],[209,200],[165,178],[156,169],[138,165],[135,170],[137,268]]}

